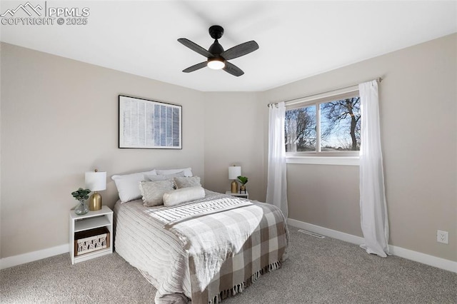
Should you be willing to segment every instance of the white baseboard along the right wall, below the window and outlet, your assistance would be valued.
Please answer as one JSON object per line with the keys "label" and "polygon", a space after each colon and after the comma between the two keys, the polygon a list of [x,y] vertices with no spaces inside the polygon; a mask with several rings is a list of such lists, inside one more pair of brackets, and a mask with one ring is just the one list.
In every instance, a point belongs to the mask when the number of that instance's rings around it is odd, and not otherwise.
{"label": "white baseboard along the right wall, below the window and outlet", "polygon": [[[353,243],[356,245],[361,245],[363,243],[363,238],[356,235],[351,235],[348,233],[343,233],[341,231],[332,230],[328,228],[324,228],[321,226],[316,226],[310,223],[305,223],[302,221],[293,220],[292,218],[287,219],[287,223],[290,226],[304,229],[311,231],[313,233],[318,233],[321,235],[326,235],[331,238],[336,238],[338,240],[344,240],[348,243]],[[426,265],[431,265],[436,268],[441,268],[444,270],[452,271],[453,273],[457,273],[457,262],[453,260],[446,260],[444,258],[438,258],[433,255],[428,255],[425,253],[419,253],[417,251],[401,248],[394,245],[389,245],[389,249],[391,250],[392,255],[399,256],[401,258],[406,258],[408,260],[414,260],[418,263],[423,263]]]}

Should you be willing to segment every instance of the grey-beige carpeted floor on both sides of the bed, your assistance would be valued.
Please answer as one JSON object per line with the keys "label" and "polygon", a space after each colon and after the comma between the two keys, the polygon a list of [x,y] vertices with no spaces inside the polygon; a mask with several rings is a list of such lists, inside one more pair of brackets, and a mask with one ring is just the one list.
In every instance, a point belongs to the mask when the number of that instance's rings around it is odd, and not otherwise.
{"label": "grey-beige carpeted floor on both sides of the bed", "polygon": [[[457,303],[457,274],[291,227],[289,258],[223,303]],[[117,253],[68,254],[1,270],[0,303],[153,303],[156,289]]]}

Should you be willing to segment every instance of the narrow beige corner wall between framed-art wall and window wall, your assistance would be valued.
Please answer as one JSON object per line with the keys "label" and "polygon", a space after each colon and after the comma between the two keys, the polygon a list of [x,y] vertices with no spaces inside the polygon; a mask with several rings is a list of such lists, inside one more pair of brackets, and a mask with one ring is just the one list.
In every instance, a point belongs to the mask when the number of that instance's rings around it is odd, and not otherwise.
{"label": "narrow beige corner wall between framed-art wall and window wall", "polygon": [[265,200],[263,116],[258,93],[205,93],[205,186],[230,190],[229,166],[248,177],[249,198]]}

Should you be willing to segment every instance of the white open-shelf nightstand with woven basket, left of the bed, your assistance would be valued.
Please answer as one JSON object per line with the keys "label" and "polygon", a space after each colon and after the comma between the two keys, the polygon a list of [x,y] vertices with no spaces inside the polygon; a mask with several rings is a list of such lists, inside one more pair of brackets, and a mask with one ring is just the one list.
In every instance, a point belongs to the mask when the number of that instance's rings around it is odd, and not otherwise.
{"label": "white open-shelf nightstand with woven basket, left of the bed", "polygon": [[[69,250],[71,264],[113,253],[113,211],[108,206],[102,206],[101,210],[98,211],[89,211],[82,216],[78,216],[76,213],[74,213],[74,210],[72,210],[70,211],[69,224]],[[106,227],[109,230],[109,247],[75,256],[75,233],[102,227]]]}

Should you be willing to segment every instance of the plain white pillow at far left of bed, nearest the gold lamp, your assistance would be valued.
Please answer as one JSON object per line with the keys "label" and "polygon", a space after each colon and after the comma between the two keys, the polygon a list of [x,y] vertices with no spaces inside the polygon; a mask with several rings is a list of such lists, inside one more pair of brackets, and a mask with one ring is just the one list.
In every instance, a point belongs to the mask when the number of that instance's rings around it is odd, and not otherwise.
{"label": "plain white pillow at far left of bed, nearest the gold lamp", "polygon": [[114,183],[116,183],[116,188],[117,192],[119,193],[119,199],[121,200],[121,203],[126,203],[128,201],[133,201],[141,198],[139,184],[141,181],[144,181],[145,174],[153,176],[157,173],[155,170],[152,170],[111,176],[111,179],[114,181]]}

